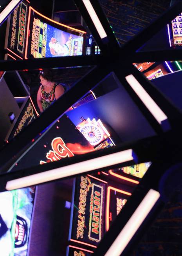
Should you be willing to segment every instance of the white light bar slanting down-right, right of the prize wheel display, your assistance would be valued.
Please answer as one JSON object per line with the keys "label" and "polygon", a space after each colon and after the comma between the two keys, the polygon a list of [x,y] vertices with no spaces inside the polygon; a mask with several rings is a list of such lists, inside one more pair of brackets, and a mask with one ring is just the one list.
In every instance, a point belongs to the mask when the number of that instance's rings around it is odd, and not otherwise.
{"label": "white light bar slanting down-right, right of the prize wheel display", "polygon": [[130,84],[135,93],[137,93],[141,101],[145,104],[145,106],[148,108],[148,110],[151,112],[153,117],[155,117],[159,124],[162,124],[162,121],[168,119],[168,117],[159,108],[159,106],[150,97],[150,95],[144,90],[144,88],[137,81],[137,79],[133,77],[133,75],[128,75],[125,78],[128,84]]}

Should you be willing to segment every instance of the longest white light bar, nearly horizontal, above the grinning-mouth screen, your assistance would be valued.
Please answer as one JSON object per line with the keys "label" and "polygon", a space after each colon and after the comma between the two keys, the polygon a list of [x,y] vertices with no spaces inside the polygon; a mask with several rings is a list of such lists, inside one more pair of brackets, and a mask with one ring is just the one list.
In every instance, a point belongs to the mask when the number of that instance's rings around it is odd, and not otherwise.
{"label": "longest white light bar, nearly horizontal, above the grinning-mouth screen", "polygon": [[17,188],[29,187],[39,183],[53,181],[55,179],[60,179],[63,177],[68,177],[76,174],[81,174],[83,172],[104,168],[106,166],[132,161],[134,160],[133,154],[134,152],[132,151],[132,149],[128,149],[121,152],[116,152],[113,154],[104,155],[94,159],[75,163],[72,165],[59,167],[53,170],[40,172],[38,174],[33,174],[27,177],[14,179],[7,182],[6,189],[13,190]]}

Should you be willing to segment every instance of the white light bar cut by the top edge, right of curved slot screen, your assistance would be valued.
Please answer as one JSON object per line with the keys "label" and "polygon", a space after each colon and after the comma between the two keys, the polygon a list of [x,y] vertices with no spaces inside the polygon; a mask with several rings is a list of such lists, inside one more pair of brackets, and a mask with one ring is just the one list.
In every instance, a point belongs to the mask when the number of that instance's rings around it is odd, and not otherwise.
{"label": "white light bar cut by the top edge, right of curved slot screen", "polygon": [[82,2],[85,5],[85,7],[90,15],[90,18],[92,19],[101,39],[107,37],[106,31],[103,28],[103,25],[101,24],[92,4],[90,3],[90,0],[82,0]]}

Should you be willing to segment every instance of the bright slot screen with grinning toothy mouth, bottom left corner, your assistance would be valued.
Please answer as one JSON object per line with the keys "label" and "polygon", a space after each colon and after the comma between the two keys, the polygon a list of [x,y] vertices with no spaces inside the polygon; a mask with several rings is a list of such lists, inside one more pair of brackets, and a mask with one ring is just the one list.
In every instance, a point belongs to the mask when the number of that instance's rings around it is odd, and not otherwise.
{"label": "bright slot screen with grinning toothy mouth, bottom left corner", "polygon": [[0,254],[26,256],[36,187],[0,193]]}

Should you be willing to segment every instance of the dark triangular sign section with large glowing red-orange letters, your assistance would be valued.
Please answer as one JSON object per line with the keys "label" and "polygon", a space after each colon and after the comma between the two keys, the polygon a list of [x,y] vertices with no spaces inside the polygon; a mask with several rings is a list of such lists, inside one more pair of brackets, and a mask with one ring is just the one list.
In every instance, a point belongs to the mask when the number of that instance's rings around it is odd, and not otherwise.
{"label": "dark triangular sign section with large glowing red-orange letters", "polygon": [[56,121],[51,128],[49,127],[49,132],[45,133],[39,141],[32,144],[32,148],[16,163],[13,170],[28,168],[30,163],[42,165],[94,151],[94,147],[88,143],[66,115]]}

